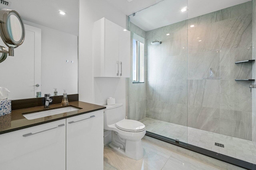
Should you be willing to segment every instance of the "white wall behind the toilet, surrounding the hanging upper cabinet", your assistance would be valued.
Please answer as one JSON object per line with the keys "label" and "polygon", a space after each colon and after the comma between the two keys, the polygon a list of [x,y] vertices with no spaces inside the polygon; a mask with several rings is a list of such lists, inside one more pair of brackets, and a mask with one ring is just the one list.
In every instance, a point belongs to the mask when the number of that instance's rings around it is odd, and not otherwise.
{"label": "white wall behind the toilet, surrounding the hanging upper cabinet", "polygon": [[126,79],[94,78],[92,58],[93,23],[105,17],[126,28],[126,15],[105,0],[80,0],[79,6],[79,100],[106,105],[106,99],[111,96],[126,107]]}

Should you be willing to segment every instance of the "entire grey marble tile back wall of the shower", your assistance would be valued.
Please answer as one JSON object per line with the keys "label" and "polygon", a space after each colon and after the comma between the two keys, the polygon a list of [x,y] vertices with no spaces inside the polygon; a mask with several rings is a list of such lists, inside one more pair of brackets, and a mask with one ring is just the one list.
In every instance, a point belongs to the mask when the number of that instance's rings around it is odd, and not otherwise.
{"label": "entire grey marble tile back wall of the shower", "polygon": [[[146,37],[146,117],[252,140],[252,82],[234,80],[252,78],[252,64],[234,64],[252,59],[251,1]],[[162,44],[150,45],[155,39]],[[202,79],[210,68],[219,79]]]}

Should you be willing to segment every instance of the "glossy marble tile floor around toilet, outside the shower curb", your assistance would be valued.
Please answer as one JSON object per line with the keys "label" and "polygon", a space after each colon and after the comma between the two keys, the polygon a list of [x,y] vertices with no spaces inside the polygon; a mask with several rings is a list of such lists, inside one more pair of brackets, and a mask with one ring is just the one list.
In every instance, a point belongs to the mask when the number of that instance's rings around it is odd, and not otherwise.
{"label": "glossy marble tile floor around toilet, outside the shower curb", "polygon": [[242,170],[243,168],[145,136],[144,158],[133,160],[104,147],[104,170]]}

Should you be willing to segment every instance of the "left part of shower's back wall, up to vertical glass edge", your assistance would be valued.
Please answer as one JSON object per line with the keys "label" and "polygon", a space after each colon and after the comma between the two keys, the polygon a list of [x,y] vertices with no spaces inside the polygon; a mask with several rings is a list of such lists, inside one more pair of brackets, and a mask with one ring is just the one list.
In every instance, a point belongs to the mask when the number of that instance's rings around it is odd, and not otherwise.
{"label": "left part of shower's back wall, up to vertical glass edge", "polygon": [[[186,126],[187,21],[147,31],[146,37],[146,117]],[[152,46],[150,43],[154,40],[162,41],[162,44]]]}

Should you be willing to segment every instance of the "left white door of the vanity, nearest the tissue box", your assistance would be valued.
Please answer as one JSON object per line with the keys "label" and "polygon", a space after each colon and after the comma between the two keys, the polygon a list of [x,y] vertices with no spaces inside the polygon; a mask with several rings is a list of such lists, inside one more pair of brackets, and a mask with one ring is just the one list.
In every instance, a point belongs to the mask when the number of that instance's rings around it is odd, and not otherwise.
{"label": "left white door of the vanity, nearest the tissue box", "polygon": [[0,135],[1,170],[64,170],[66,119]]}

